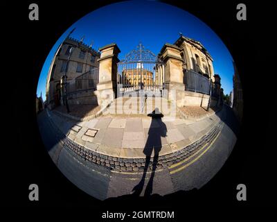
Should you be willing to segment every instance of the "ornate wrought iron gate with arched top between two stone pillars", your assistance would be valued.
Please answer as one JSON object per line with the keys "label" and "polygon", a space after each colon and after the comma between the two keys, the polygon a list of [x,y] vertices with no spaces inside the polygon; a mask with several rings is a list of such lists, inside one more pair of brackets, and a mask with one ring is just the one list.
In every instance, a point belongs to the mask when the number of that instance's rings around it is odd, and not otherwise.
{"label": "ornate wrought iron gate with arched top between two stone pillars", "polygon": [[162,96],[165,80],[163,62],[141,43],[117,65],[118,96]]}

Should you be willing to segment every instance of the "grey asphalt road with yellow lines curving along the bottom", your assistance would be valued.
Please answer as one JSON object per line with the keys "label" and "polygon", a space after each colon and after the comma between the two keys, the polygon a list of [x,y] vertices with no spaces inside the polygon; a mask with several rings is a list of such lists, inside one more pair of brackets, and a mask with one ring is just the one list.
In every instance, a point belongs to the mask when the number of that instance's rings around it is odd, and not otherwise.
{"label": "grey asphalt road with yellow lines curving along the bottom", "polygon": [[[194,156],[154,174],[119,173],[82,159],[64,146],[62,133],[53,126],[46,111],[38,116],[39,130],[49,155],[60,171],[74,185],[91,196],[104,200],[126,194],[146,196],[166,195],[179,190],[200,188],[206,184],[227,160],[235,145],[238,123],[233,111],[224,106],[219,113],[223,121],[220,133]],[[139,192],[134,192],[139,187]]]}

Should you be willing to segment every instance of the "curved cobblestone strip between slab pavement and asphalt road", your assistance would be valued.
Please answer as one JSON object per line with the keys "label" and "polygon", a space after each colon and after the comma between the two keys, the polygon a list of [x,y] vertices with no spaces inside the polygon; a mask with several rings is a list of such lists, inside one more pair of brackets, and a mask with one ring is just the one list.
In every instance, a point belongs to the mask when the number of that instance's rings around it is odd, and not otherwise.
{"label": "curved cobblestone strip between slab pavement and asphalt road", "polygon": [[[50,117],[51,118],[51,117]],[[77,153],[86,161],[93,162],[95,164],[99,164],[103,167],[107,167],[114,171],[144,171],[145,167],[145,158],[122,158],[122,157],[112,157],[109,155],[104,155],[101,153],[97,153],[95,151],[91,151],[80,144],[76,144],[68,137],[64,136],[53,120],[51,120],[51,125],[57,131],[57,137],[60,137],[61,142],[64,144],[63,148],[70,148],[73,152]],[[213,141],[213,138],[220,132],[223,123],[220,122],[216,126],[214,126],[206,135],[202,138],[190,144],[183,149],[167,154],[161,155],[158,157],[156,168],[161,169],[163,167],[170,167],[172,164],[180,162],[188,158],[193,153],[199,151],[205,144]],[[153,167],[153,159],[154,157],[150,158],[150,163],[148,170],[152,170]]]}

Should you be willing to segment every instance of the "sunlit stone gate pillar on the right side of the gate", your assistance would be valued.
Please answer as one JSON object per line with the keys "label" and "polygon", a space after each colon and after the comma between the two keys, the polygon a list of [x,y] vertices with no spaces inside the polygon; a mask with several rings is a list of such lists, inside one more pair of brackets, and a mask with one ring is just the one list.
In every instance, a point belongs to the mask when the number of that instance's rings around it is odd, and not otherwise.
{"label": "sunlit stone gate pillar on the right side of the gate", "polygon": [[165,63],[165,83],[168,90],[168,100],[176,101],[176,105],[184,105],[185,85],[183,83],[183,68],[181,49],[172,44],[165,44],[161,49],[161,60]]}

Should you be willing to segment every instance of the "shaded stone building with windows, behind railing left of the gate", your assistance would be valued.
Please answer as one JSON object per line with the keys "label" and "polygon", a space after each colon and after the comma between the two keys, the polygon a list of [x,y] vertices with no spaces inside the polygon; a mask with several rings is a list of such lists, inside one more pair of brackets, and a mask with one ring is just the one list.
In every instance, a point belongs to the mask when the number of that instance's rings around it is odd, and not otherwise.
{"label": "shaded stone building with windows, behind railing left of the gate", "polygon": [[[75,85],[75,78],[99,67],[100,53],[72,37],[60,44],[48,70],[46,81],[46,103],[55,108],[61,103],[61,79],[66,74],[67,83]],[[73,84],[71,84],[73,83]]]}

